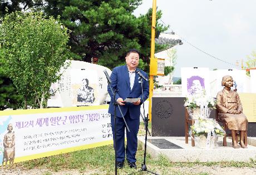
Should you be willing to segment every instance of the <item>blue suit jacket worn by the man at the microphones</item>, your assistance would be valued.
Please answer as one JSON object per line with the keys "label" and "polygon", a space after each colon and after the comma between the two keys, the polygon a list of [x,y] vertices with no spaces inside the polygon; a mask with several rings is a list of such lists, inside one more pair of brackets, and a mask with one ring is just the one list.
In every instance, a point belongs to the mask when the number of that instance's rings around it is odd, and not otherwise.
{"label": "blue suit jacket worn by the man at the microphones", "polygon": [[[136,71],[140,71],[144,77],[147,78],[147,74],[142,71],[139,68],[136,68]],[[134,87],[132,89],[130,88],[130,78],[129,78],[129,72],[127,66],[119,66],[115,67],[111,73],[110,79],[112,83],[110,86],[112,87],[113,91],[115,89],[118,89],[118,92],[116,93],[116,99],[122,98],[125,100],[125,98],[141,98],[141,104],[142,104],[142,93],[141,93],[141,84],[139,80],[139,75],[135,73],[135,80],[134,80]],[[148,79],[148,78],[147,78]],[[146,99],[149,97],[149,83],[142,79],[142,89],[143,89],[143,99],[146,101]],[[109,113],[114,115],[114,95],[111,92],[110,87],[107,87],[107,91],[110,94],[111,102],[109,106]],[[140,118],[140,106],[134,105],[132,103],[125,103],[125,106],[120,106],[122,114],[126,114],[126,112],[129,110],[131,119],[137,119]],[[119,111],[119,108],[116,107],[116,116],[122,117],[121,113]]]}

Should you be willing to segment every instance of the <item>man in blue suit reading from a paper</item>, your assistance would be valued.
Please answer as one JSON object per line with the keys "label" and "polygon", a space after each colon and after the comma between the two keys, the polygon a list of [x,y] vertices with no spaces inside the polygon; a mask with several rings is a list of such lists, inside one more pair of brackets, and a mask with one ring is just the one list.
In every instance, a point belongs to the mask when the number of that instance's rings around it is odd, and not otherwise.
{"label": "man in blue suit reading from a paper", "polygon": [[[147,74],[141,69],[137,68],[139,64],[139,51],[136,49],[130,49],[125,57],[126,65],[115,67],[111,73],[110,79],[112,83],[110,86],[113,91],[118,90],[116,93],[116,100],[111,92],[110,87],[107,90],[111,97],[109,106],[109,113],[111,114],[111,126],[113,138],[115,140],[115,128],[114,128],[114,102],[116,101],[124,114],[127,126],[130,128],[130,132],[126,129],[127,145],[125,148],[125,122],[116,107],[116,154],[117,154],[117,167],[122,168],[124,166],[125,155],[127,162],[131,168],[136,168],[136,151],[137,151],[137,133],[140,125],[140,106],[143,103],[142,99],[146,101],[149,97],[149,83],[142,79],[139,79],[137,71],[141,72],[144,77],[147,78]],[[141,83],[143,90],[143,98],[141,93]],[[134,103],[126,103],[126,98],[140,98],[139,101]]]}

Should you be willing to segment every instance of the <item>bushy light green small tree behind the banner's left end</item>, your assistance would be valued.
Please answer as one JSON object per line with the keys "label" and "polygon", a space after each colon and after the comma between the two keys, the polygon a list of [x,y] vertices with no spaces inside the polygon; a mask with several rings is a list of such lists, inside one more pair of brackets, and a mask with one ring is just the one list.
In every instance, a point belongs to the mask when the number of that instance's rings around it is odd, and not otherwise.
{"label": "bushy light green small tree behind the banner's left end", "polygon": [[68,59],[68,29],[42,13],[14,12],[0,26],[0,61],[4,73],[31,106],[46,103],[52,82]]}

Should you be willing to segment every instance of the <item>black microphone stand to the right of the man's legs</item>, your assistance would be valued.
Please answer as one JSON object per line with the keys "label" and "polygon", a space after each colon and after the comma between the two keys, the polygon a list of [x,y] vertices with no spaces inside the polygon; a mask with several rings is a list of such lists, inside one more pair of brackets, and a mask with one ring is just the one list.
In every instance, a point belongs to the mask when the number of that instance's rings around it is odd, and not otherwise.
{"label": "black microphone stand to the right of the man's legs", "polygon": [[[139,74],[139,76],[140,76],[140,74]],[[147,132],[149,132],[149,129],[148,129],[149,114],[147,114],[147,117],[145,117],[145,107],[144,107],[144,97],[143,97],[143,87],[142,87],[142,76],[140,76],[140,83],[141,83],[141,94],[142,94],[142,106],[143,106],[144,120],[145,120],[144,126],[145,126],[145,129],[146,129],[145,145],[144,145],[144,161],[143,161],[143,164],[141,164],[141,171],[146,171],[146,172],[149,172],[151,174],[159,175],[157,173],[154,173],[154,172],[151,172],[151,171],[147,170],[147,166],[146,166],[146,148],[147,148]]]}

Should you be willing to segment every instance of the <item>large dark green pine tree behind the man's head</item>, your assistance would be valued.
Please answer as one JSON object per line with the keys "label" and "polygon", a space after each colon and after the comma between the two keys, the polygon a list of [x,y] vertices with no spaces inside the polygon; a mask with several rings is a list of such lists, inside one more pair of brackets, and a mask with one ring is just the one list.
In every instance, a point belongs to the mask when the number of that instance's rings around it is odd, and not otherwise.
{"label": "large dark green pine tree behind the man's head", "polygon": [[[49,16],[61,16],[61,21],[70,29],[72,57],[91,62],[100,58],[99,64],[109,68],[125,63],[125,53],[130,48],[142,53],[139,67],[148,71],[151,41],[151,9],[136,18],[132,12],[141,0],[109,1],[46,1],[43,11]],[[157,20],[161,17],[157,12]],[[157,23],[157,30],[165,31]],[[163,46],[156,46],[156,49]]]}

